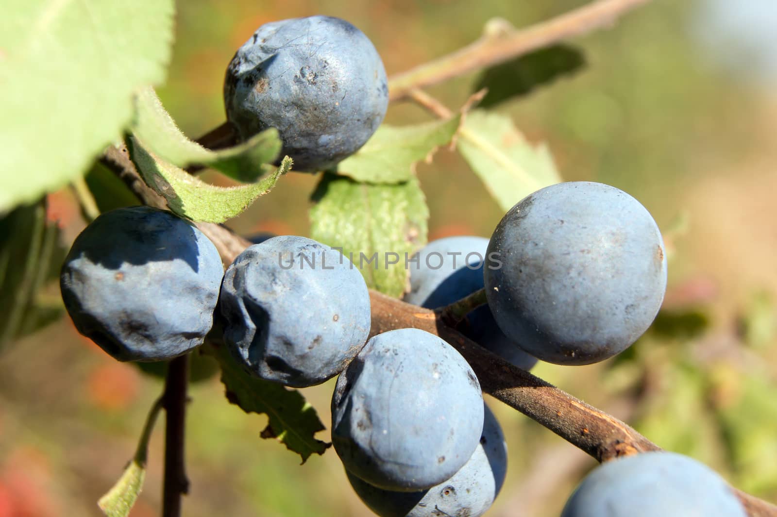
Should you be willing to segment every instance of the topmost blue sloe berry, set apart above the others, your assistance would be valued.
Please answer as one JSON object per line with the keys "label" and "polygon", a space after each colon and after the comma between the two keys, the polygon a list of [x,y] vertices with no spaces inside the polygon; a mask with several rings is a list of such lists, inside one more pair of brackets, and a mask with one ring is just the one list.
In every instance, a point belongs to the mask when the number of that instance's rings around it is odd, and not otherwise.
{"label": "topmost blue sloe berry, set apart above the others", "polygon": [[389,88],[361,30],[309,16],[257,29],[229,64],[224,101],[243,140],[275,127],[294,170],[315,172],[368,141],[385,116]]}

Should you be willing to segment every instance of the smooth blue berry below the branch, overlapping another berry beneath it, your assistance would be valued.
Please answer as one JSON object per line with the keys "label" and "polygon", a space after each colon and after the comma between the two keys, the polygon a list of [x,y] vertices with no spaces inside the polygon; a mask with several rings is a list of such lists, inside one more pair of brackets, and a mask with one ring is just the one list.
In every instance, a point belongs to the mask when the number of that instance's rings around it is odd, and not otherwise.
{"label": "smooth blue berry below the branch, overlapping another berry beneath it", "polygon": [[483,431],[472,368],[416,328],[371,338],[337,379],[332,441],[351,474],[378,488],[420,491],[464,466]]}

